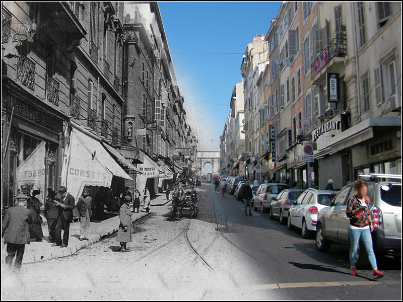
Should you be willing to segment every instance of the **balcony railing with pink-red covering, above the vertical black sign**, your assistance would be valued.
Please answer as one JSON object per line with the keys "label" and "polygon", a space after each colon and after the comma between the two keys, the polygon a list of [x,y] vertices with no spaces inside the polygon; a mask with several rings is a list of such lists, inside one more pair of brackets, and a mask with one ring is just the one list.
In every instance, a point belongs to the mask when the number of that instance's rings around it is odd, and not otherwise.
{"label": "balcony railing with pink-red covering, above the vertical black sign", "polygon": [[312,60],[312,79],[331,61],[334,57],[345,57],[347,55],[346,41],[344,39],[332,39],[323,51]]}

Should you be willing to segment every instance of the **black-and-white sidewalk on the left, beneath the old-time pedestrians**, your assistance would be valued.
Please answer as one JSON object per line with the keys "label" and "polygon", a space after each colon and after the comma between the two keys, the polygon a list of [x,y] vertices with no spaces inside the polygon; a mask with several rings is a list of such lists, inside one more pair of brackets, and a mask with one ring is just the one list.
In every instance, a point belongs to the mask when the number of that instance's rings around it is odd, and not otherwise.
{"label": "black-and-white sidewalk on the left, beneath the old-time pedestrians", "polygon": [[[168,203],[168,201],[165,199],[165,194],[161,194],[157,198],[151,200],[151,212],[153,211],[153,206],[163,205],[166,203]],[[137,221],[144,216],[147,216],[148,214],[149,213],[143,211],[143,208],[141,207],[139,213],[132,213],[132,222]],[[29,245],[25,246],[23,263],[33,263],[38,261],[50,260],[53,258],[70,256],[76,253],[78,250],[100,241],[102,237],[117,232],[118,229],[119,215],[106,219],[102,222],[91,222],[89,240],[80,241],[80,221],[73,222],[70,224],[69,246],[66,248],[60,248],[52,247],[52,244],[48,242],[49,232],[47,224],[43,225],[43,241],[31,241]],[[2,244],[2,256],[3,255],[7,255],[6,245],[4,244]]]}

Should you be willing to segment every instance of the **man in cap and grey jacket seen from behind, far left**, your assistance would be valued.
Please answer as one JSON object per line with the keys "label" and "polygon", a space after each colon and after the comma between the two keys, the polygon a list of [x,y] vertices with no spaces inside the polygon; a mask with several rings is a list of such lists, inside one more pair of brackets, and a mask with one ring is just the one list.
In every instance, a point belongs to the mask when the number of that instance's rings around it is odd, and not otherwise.
{"label": "man in cap and grey jacket seen from behind, far left", "polygon": [[29,224],[34,221],[33,212],[26,208],[28,196],[18,194],[15,206],[9,208],[2,224],[2,238],[7,244],[6,267],[11,269],[14,257],[15,270],[21,269],[25,245],[30,243]]}

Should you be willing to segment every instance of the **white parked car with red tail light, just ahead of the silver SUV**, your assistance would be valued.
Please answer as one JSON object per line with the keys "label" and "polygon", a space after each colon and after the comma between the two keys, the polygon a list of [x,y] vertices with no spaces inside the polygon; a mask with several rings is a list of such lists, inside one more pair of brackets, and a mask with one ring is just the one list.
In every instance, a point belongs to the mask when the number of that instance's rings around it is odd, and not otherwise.
{"label": "white parked car with red tail light, just ahead of the silver SUV", "polygon": [[288,211],[287,227],[289,230],[296,226],[301,229],[302,238],[309,238],[316,231],[318,213],[328,207],[338,192],[327,190],[307,189],[303,192]]}

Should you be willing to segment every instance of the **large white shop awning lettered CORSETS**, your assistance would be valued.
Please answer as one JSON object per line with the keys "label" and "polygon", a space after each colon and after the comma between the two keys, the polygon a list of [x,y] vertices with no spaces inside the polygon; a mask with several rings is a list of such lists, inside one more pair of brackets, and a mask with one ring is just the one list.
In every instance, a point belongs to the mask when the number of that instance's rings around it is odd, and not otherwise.
{"label": "large white shop awning lettered CORSETS", "polygon": [[73,127],[61,172],[61,184],[76,200],[85,186],[110,187],[112,176],[132,181],[101,142],[82,131]]}

